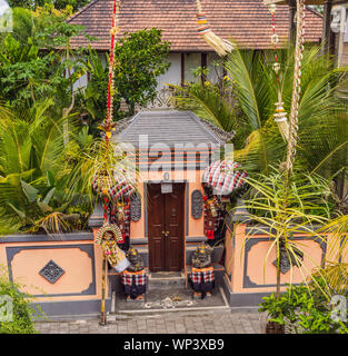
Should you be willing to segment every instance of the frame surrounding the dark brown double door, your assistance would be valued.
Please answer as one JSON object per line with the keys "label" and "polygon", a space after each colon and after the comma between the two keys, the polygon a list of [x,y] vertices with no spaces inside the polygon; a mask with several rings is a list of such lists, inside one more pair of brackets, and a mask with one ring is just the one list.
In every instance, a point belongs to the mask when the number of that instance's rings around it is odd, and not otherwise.
{"label": "frame surrounding the dark brown double door", "polygon": [[[150,239],[149,239],[149,227],[148,227],[148,199],[149,191],[148,185],[156,185],[162,182],[170,184],[183,184],[183,236],[182,236],[182,270],[186,269],[186,236],[189,231],[189,181],[185,180],[148,180],[143,182],[143,222],[145,222],[145,237],[148,239],[148,254],[150,253]],[[149,256],[149,266],[150,266],[150,256]]]}

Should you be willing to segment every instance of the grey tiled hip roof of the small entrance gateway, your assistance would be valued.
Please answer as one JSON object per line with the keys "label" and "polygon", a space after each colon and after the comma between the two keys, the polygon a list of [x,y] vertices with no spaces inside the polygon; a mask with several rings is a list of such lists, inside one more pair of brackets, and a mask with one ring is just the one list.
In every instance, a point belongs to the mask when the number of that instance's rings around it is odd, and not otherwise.
{"label": "grey tiled hip roof of the small entrance gateway", "polygon": [[127,122],[121,122],[117,127],[116,139],[138,148],[139,135],[147,135],[149,148],[156,144],[165,144],[169,148],[180,144],[193,144],[195,148],[207,144],[211,148],[212,145],[225,144],[233,132],[227,134],[191,111],[151,110],[140,111]]}

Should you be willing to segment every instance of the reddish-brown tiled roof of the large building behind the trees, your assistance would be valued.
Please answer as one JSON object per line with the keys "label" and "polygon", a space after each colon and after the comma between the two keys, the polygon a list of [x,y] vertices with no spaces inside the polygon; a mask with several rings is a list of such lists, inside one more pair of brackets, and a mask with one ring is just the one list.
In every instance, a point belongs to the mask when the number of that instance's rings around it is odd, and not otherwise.
{"label": "reddish-brown tiled roof of the large building behind the trees", "polygon": [[[270,48],[271,19],[264,0],[201,0],[211,30],[225,39],[232,39],[240,47]],[[86,33],[97,37],[89,42],[82,36],[72,39],[73,47],[91,44],[97,50],[108,50],[113,0],[91,0],[68,21],[82,24]],[[171,51],[212,52],[197,33],[196,0],[122,0],[120,30],[135,32],[145,28],[159,28],[162,37],[171,43]],[[306,11],[306,40],[319,42],[322,17],[308,8]],[[289,29],[289,9],[277,6],[276,28],[286,41]]]}

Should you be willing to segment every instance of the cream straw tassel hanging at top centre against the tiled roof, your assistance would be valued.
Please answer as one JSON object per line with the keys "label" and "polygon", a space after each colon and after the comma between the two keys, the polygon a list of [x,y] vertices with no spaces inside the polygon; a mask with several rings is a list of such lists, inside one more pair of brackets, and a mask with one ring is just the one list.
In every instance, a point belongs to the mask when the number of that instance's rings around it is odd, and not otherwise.
{"label": "cream straw tassel hanging at top centre against the tiled roof", "polygon": [[206,42],[213,48],[213,50],[220,56],[225,57],[228,52],[235,49],[235,44],[228,40],[219,38],[215,34],[207,21],[206,14],[202,11],[202,6],[200,0],[197,0],[197,22],[199,24],[198,33],[202,36]]}

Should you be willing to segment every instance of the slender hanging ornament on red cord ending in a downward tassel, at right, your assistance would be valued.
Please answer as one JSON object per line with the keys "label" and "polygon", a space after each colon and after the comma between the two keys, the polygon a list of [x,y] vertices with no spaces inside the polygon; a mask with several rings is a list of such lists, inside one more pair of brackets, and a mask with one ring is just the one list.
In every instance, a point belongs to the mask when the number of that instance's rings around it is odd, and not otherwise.
{"label": "slender hanging ornament on red cord ending in a downward tassel, at right", "polygon": [[279,37],[276,33],[276,18],[275,18],[276,10],[277,10],[277,6],[275,3],[271,3],[269,6],[269,12],[271,13],[271,18],[272,18],[272,20],[271,20],[272,21],[272,36],[271,36],[270,40],[274,46],[274,52],[275,52],[274,70],[276,72],[276,78],[277,78],[277,93],[278,93],[278,102],[276,102],[276,113],[274,115],[274,118],[278,125],[281,137],[284,138],[285,141],[288,141],[288,139],[289,139],[289,122],[287,119],[287,112],[284,109],[284,102],[281,99],[281,90],[280,90],[280,80],[279,80],[280,63],[278,60],[278,51],[277,51],[277,44],[279,42]]}

